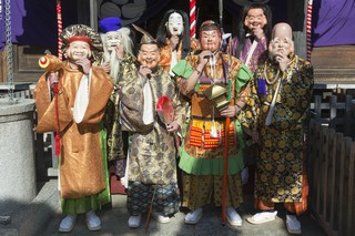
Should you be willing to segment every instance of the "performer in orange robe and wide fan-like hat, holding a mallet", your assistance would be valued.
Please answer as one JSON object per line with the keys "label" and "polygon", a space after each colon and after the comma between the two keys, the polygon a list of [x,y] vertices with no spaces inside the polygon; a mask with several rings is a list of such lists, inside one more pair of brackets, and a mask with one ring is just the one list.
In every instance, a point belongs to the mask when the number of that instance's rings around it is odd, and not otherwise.
{"label": "performer in orange robe and wide fan-like hat, holding a mallet", "polygon": [[[113,89],[110,76],[92,65],[100,60],[99,33],[73,24],[60,34],[65,61],[44,73],[36,89],[36,131],[57,132],[60,145],[59,182],[62,214],[60,232],[70,232],[78,214],[85,213],[90,230],[101,229],[95,214],[110,202],[105,131],[101,123]],[[51,98],[52,94],[52,98]],[[60,143],[59,143],[60,142]]]}

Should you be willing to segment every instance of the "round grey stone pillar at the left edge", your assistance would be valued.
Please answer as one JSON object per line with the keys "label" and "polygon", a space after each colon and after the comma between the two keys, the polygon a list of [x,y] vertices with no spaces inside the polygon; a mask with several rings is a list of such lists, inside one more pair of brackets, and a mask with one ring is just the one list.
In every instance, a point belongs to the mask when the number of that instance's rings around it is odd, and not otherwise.
{"label": "round grey stone pillar at the left edge", "polygon": [[[0,99],[0,202],[31,203],[37,195],[34,100]],[[3,206],[2,206],[3,207]],[[1,204],[0,204],[1,209]]]}

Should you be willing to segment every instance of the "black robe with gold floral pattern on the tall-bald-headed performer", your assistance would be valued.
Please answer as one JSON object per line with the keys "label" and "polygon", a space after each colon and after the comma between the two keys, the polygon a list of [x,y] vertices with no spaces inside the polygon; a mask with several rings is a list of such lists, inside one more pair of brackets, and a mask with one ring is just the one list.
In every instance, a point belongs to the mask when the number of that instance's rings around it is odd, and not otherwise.
{"label": "black robe with gold floral pattern on the tall-bald-headed performer", "polygon": [[[281,78],[275,94],[277,78]],[[310,115],[313,88],[312,65],[293,57],[285,72],[271,60],[257,68],[252,81],[252,105],[256,120],[250,127],[260,133],[260,156],[256,162],[255,197],[273,203],[301,202],[304,171],[304,134]],[[273,96],[276,103],[272,123],[265,121]],[[255,122],[255,123],[254,123]]]}

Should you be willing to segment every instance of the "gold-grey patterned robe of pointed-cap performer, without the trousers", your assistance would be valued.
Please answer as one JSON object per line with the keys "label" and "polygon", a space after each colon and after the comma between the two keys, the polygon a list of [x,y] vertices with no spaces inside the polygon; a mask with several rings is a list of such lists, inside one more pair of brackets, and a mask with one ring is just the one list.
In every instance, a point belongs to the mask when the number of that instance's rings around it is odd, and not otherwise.
{"label": "gold-grey patterned robe of pointed-cap performer, without the trousers", "polygon": [[176,147],[174,136],[155,112],[160,96],[169,96],[174,104],[175,120],[183,124],[184,112],[175,85],[168,72],[158,66],[149,83],[153,95],[154,122],[145,125],[143,116],[143,85],[135,63],[123,61],[119,80],[123,126],[132,132],[129,150],[129,181],[143,184],[176,184]]}

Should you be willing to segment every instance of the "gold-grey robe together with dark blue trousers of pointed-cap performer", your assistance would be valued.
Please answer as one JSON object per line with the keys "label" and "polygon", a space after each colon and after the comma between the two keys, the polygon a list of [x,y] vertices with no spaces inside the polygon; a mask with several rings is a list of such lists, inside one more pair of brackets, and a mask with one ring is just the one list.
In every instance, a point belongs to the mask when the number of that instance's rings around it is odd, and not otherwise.
{"label": "gold-grey robe together with dark blue trousers of pointed-cap performer", "polygon": [[181,105],[175,85],[168,72],[158,66],[146,81],[152,90],[153,117],[151,125],[143,123],[143,86],[140,82],[136,63],[123,61],[119,80],[122,122],[130,132],[129,150],[129,204],[131,214],[136,215],[148,209],[152,198],[152,186],[156,186],[155,211],[173,214],[179,211],[179,189],[176,175],[176,147],[174,135],[166,131],[155,106],[159,98],[169,96],[174,105],[175,120],[184,123],[185,112]]}

